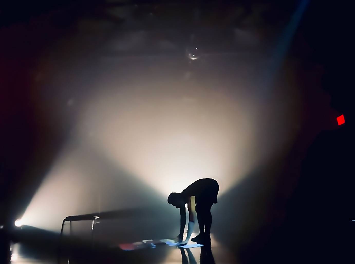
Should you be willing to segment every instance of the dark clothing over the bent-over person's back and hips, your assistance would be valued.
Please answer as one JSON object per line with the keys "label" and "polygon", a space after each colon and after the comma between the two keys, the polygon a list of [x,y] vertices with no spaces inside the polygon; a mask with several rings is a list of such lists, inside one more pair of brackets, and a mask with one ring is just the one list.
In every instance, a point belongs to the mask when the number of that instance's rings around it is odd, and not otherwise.
{"label": "dark clothing over the bent-over person's back and hips", "polygon": [[185,190],[181,192],[181,195],[185,202],[187,202],[191,196],[195,196],[196,204],[199,202],[211,202],[216,204],[218,190],[219,185],[217,181],[214,179],[205,178],[191,183]]}

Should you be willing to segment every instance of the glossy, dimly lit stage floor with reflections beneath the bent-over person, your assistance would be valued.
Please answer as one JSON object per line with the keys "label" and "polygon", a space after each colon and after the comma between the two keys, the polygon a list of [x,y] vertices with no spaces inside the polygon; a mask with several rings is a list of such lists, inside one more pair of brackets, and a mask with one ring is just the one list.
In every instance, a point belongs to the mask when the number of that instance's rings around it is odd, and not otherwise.
{"label": "glossy, dimly lit stage floor with reflections beneath the bent-over person", "polygon": [[[189,244],[195,243],[190,242]],[[31,244],[24,242],[13,243],[11,254],[11,263],[57,263],[55,251],[33,249]],[[213,234],[211,234],[211,247],[179,248],[163,243],[156,247],[125,251],[119,245],[113,245],[109,253],[105,252],[102,256],[95,253],[93,258],[95,260],[88,260],[88,256],[81,259],[82,252],[78,255],[75,252],[71,252],[71,254],[72,257],[69,257],[69,260],[66,254],[62,254],[60,263],[237,263],[234,254],[218,243]],[[90,254],[88,253],[88,255]]]}

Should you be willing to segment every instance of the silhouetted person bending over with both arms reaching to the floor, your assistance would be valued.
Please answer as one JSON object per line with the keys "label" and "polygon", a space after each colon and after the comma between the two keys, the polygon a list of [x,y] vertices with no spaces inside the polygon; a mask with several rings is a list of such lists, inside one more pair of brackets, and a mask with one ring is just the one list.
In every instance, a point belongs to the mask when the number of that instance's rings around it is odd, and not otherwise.
{"label": "silhouetted person bending over with both arms reaching to the floor", "polygon": [[[219,185],[214,179],[199,179],[190,184],[181,193],[171,193],[168,197],[168,203],[180,208],[180,233],[176,241],[181,244],[186,244],[192,234],[193,226],[195,225],[194,212],[196,205],[198,227],[200,234],[191,240],[196,243],[205,243],[211,241],[209,236],[212,225],[211,207],[217,204],[217,194]],[[182,242],[184,236],[184,229],[186,225],[186,210],[189,210],[189,224],[187,226],[187,237]]]}

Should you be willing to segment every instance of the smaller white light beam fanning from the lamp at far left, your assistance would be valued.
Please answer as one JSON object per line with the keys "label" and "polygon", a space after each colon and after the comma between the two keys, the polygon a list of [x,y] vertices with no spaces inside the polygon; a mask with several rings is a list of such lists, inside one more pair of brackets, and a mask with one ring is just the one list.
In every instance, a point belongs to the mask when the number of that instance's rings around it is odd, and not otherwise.
{"label": "smaller white light beam fanning from the lamp at far left", "polygon": [[62,150],[22,216],[25,225],[59,232],[66,216],[98,211],[99,172],[87,152],[71,144]]}

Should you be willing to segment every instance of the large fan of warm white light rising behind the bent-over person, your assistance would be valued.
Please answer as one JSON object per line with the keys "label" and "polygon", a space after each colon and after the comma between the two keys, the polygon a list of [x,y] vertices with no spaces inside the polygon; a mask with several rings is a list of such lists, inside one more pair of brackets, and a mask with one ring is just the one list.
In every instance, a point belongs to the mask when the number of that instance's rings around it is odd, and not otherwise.
{"label": "large fan of warm white light rising behind the bent-over person", "polygon": [[101,93],[81,120],[95,127],[89,144],[164,196],[200,178],[216,179],[222,194],[260,159],[255,116],[242,94],[236,103],[202,87],[140,92]]}

